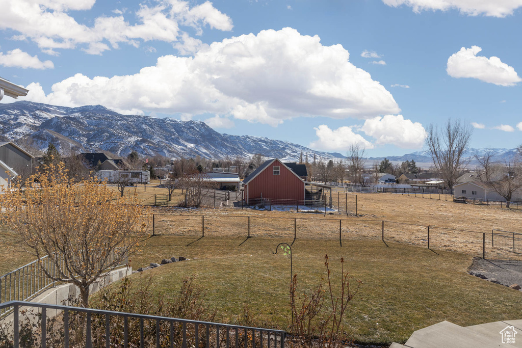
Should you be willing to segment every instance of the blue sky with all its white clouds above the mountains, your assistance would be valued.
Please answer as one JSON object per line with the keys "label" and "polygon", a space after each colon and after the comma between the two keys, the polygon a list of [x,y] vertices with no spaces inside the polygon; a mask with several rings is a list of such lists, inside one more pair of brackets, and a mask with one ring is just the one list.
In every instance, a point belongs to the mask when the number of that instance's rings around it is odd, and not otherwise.
{"label": "blue sky with all its white clouds above the mountains", "polygon": [[2,7],[0,76],[26,86],[27,100],[196,119],[332,152],[357,142],[372,156],[422,150],[424,128],[449,117],[474,125],[472,147],[522,143],[522,0]]}

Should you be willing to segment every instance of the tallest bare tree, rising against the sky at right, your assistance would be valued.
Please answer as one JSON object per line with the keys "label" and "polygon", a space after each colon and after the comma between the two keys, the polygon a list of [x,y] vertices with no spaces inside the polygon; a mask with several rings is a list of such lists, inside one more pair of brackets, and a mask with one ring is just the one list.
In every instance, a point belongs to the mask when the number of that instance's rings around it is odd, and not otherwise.
{"label": "tallest bare tree, rising against the sky at right", "polygon": [[448,119],[444,128],[438,129],[432,124],[428,127],[427,133],[426,146],[433,164],[446,185],[452,188],[469,163],[463,155],[469,145],[473,128],[458,119]]}

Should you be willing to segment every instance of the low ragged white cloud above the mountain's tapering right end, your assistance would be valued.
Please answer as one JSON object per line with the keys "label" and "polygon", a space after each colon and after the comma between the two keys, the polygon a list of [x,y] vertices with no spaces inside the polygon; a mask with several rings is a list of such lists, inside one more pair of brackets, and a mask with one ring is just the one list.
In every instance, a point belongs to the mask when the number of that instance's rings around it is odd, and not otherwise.
{"label": "low ragged white cloud above the mountain's tapering right end", "polygon": [[310,147],[325,151],[346,151],[351,145],[361,145],[366,149],[373,149],[373,144],[360,134],[354,133],[352,127],[330,129],[327,125],[314,127],[317,140],[310,143]]}

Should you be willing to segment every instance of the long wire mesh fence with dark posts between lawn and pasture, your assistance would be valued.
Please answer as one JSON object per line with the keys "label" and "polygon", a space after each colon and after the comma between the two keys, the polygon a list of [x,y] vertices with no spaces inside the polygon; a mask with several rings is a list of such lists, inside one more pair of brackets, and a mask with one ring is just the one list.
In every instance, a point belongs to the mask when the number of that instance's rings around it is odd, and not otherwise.
{"label": "long wire mesh fence with dark posts between lawn and pasture", "polygon": [[518,254],[522,250],[522,233],[518,232],[480,232],[387,220],[212,214],[153,214],[152,220],[156,235],[337,239],[340,246],[350,239],[382,239],[483,258]]}

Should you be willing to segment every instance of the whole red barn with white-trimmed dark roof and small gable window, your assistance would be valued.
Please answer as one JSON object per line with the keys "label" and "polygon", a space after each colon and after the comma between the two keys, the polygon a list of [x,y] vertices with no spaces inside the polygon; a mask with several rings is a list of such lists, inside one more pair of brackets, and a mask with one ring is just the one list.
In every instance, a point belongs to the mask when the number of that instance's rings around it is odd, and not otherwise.
{"label": "whole red barn with white-trimmed dark roof and small gable window", "polygon": [[277,158],[268,160],[244,179],[246,204],[256,204],[262,198],[270,199],[274,204],[304,204],[305,182],[302,177],[306,177],[304,164],[287,165]]}

